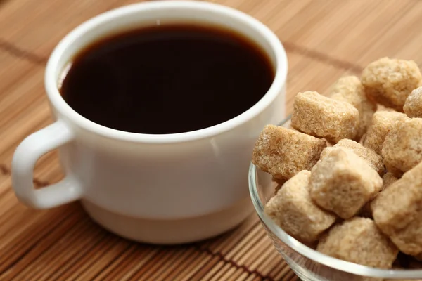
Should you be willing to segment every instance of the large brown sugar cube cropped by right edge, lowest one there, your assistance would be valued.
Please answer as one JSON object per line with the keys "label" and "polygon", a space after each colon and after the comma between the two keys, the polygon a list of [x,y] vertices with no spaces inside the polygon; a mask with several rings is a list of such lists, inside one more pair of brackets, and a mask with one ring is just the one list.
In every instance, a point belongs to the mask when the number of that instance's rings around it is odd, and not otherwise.
{"label": "large brown sugar cube cropped by right edge, lowest one there", "polygon": [[422,253],[422,162],[371,203],[373,219],[404,254]]}

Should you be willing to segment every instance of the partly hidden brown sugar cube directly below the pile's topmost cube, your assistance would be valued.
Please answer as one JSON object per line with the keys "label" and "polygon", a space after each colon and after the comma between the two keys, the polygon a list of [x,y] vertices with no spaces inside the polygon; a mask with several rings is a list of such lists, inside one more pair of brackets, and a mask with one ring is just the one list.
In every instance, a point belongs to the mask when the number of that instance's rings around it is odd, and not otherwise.
{"label": "partly hidden brown sugar cube directly below the pile's topmost cube", "polygon": [[377,111],[373,114],[371,126],[369,126],[364,146],[381,155],[385,136],[397,124],[407,119],[404,113],[395,111]]}

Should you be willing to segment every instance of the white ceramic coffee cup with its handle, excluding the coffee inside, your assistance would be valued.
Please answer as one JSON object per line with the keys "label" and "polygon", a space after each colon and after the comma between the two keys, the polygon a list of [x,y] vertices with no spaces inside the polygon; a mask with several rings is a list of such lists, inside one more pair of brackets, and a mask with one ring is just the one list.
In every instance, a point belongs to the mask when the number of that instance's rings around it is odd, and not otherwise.
{"label": "white ceramic coffee cup with its handle, excluding the coffee inside", "polygon": [[[215,24],[253,39],[276,69],[271,88],[234,119],[167,135],[110,129],[65,103],[58,83],[84,46],[122,30],[168,22]],[[276,35],[232,8],[196,1],[154,1],[98,15],[70,32],[49,58],[45,84],[56,122],[25,138],[16,149],[15,194],[36,209],[81,200],[101,226],[141,242],[175,244],[224,233],[252,212],[248,195],[252,148],[264,125],[283,119],[286,74],[286,53]],[[242,98],[242,93],[233,94]],[[56,148],[65,178],[35,190],[34,164]]]}

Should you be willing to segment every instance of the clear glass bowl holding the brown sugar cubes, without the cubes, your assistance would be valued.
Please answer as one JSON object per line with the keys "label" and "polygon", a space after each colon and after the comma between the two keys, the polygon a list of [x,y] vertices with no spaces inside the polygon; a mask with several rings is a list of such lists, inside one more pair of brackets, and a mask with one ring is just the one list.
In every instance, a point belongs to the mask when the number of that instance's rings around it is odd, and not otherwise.
{"label": "clear glass bowl holding the brown sugar cubes, without the cubes", "polygon": [[[290,128],[290,117],[279,126]],[[386,270],[361,266],[321,254],[305,246],[284,232],[264,213],[264,206],[274,196],[276,184],[271,175],[249,167],[249,191],[262,226],[276,247],[298,277],[303,281],[381,281],[422,280],[422,270]],[[422,235],[422,234],[421,234]]]}

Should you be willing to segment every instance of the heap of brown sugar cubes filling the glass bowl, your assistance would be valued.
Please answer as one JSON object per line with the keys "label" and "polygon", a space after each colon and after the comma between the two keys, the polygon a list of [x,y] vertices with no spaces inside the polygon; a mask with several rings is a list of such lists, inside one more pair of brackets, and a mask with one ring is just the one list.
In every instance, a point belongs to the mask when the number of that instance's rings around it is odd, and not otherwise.
{"label": "heap of brown sugar cubes filling the glass bowl", "polygon": [[326,96],[298,93],[291,129],[265,126],[252,162],[278,183],[266,214],[307,246],[375,268],[422,259],[422,75],[413,60],[381,58]]}

